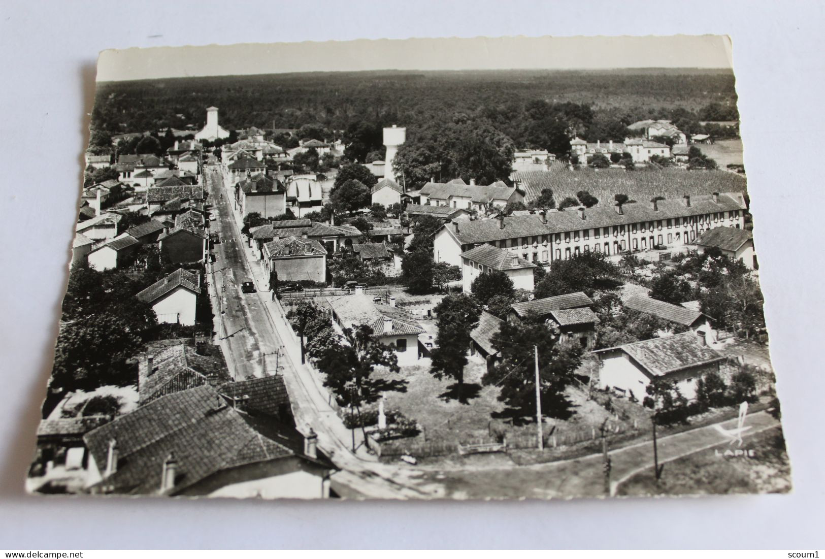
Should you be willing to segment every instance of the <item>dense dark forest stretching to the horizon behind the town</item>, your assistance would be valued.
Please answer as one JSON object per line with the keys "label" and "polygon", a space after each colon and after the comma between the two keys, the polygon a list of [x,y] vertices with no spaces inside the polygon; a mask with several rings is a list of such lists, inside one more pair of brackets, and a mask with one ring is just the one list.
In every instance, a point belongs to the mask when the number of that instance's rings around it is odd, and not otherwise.
{"label": "dense dark forest stretching to the horizon behind the town", "polygon": [[[572,102],[597,118],[635,121],[683,111],[697,120],[735,120],[733,73],[700,69],[610,71],[284,73],[98,84],[92,114],[109,134],[200,127],[218,106],[228,129],[344,130],[375,124],[424,124],[445,115],[483,115],[520,143],[530,101]],[[274,124],[274,126],[273,126]]]}

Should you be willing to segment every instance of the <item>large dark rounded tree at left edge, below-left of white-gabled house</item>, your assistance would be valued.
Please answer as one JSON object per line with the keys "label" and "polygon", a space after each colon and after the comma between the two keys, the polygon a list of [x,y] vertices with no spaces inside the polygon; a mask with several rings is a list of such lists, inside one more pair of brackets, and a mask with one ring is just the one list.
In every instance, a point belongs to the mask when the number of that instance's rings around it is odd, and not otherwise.
{"label": "large dark rounded tree at left edge, below-left of white-gabled house", "polygon": [[140,338],[108,312],[98,313],[94,320],[64,323],[55,345],[51,385],[66,391],[121,383],[125,361],[139,347]]}

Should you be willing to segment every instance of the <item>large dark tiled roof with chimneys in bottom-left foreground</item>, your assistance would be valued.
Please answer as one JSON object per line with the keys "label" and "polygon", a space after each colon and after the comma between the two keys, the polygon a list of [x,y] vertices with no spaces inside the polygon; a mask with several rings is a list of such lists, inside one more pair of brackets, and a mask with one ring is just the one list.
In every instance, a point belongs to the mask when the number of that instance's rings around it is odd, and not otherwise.
{"label": "large dark tiled roof with chimneys in bottom-left foreground", "polygon": [[117,470],[98,484],[115,493],[157,494],[170,454],[177,461],[172,493],[227,468],[295,456],[254,429],[209,386],[160,397],[83,439],[101,471],[109,443],[115,440]]}

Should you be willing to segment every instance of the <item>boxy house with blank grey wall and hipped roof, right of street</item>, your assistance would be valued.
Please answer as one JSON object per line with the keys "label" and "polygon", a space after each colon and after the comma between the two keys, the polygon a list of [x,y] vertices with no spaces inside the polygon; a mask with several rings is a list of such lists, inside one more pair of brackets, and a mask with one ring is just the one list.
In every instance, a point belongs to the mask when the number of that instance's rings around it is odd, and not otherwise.
{"label": "boxy house with blank grey wall and hipped roof, right of street", "polygon": [[266,274],[278,273],[279,281],[327,282],[327,250],[314,239],[285,237],[263,246]]}

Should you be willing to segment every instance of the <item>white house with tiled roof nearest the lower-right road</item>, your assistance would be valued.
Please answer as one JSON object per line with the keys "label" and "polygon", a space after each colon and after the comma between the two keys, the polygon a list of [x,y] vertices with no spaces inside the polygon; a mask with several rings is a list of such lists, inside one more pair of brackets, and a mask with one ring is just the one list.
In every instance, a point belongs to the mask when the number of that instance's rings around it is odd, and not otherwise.
{"label": "white house with tiled roof nearest the lower-right road", "polygon": [[726,359],[694,331],[596,350],[600,361],[599,387],[630,394],[641,402],[648,384],[666,380],[676,384],[682,396],[696,395],[696,381],[719,373]]}

